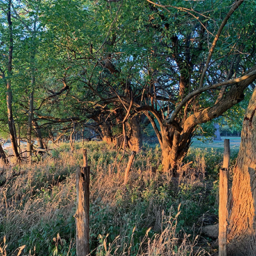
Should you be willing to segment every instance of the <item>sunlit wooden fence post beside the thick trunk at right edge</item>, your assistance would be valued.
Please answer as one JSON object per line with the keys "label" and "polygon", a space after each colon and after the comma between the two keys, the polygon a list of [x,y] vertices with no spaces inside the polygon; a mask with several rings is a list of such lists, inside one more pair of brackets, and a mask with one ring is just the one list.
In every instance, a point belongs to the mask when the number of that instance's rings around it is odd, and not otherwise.
{"label": "sunlit wooden fence post beside the thick trunk at right edge", "polygon": [[219,256],[227,256],[229,140],[224,140],[223,168],[220,170]]}

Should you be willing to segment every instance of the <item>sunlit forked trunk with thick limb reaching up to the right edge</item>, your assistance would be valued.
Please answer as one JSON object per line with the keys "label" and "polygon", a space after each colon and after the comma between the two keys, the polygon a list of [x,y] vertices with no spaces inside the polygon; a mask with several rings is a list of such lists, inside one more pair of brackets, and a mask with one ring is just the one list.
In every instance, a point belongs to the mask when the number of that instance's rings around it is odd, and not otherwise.
{"label": "sunlit forked trunk with thick limb reaching up to the right edge", "polygon": [[[214,118],[217,118],[225,111],[232,108],[232,106],[243,100],[243,91],[256,79],[255,70],[256,66],[250,70],[250,72],[253,72],[253,75],[248,76],[239,83],[236,83],[236,85],[230,88],[230,90],[225,94],[225,97],[223,97],[218,104],[214,104],[212,107],[199,110],[193,113],[193,115],[189,115],[186,120],[184,120],[183,124],[180,122],[179,125],[179,123],[175,120],[170,122],[170,120],[163,121],[161,118],[157,118],[161,127],[161,132],[160,134],[157,134],[157,138],[163,152],[164,170],[175,169],[176,166],[182,161],[184,156],[186,156],[188,148],[191,144],[191,139],[193,138],[193,134],[198,124],[204,124]],[[156,114],[155,116],[157,117]],[[150,122],[154,127],[152,120]],[[168,132],[166,132],[167,129],[169,129]],[[154,130],[157,130],[156,125]],[[169,141],[168,147],[165,146],[166,143],[164,143],[164,140]]]}

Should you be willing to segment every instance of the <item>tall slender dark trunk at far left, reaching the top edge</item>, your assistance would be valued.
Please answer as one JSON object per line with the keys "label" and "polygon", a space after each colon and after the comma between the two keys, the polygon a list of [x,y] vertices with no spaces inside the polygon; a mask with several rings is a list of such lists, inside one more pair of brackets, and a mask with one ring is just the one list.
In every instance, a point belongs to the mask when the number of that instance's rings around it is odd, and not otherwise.
{"label": "tall slender dark trunk at far left, reaching the top edge", "polygon": [[10,76],[12,74],[13,31],[12,31],[12,19],[11,19],[11,5],[12,5],[12,1],[9,0],[7,19],[8,19],[9,33],[10,33],[10,47],[9,47],[9,57],[8,57],[8,77],[6,81],[6,89],[7,89],[6,103],[7,103],[7,113],[8,113],[8,126],[10,131],[10,139],[12,143],[13,153],[17,161],[21,161],[19,151],[18,151],[18,146],[17,146],[15,124],[14,124],[13,115],[12,115],[12,88],[11,88]]}

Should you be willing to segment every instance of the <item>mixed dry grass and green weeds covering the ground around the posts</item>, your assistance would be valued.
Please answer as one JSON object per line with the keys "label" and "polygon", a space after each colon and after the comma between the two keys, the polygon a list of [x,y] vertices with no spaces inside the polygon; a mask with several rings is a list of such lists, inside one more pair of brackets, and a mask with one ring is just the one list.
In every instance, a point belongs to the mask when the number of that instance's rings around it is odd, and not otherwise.
{"label": "mixed dry grass and green weeds covering the ground around the posts", "polygon": [[[191,148],[179,179],[163,173],[161,150],[144,145],[124,185],[129,158],[88,142],[92,255],[210,255],[206,216],[218,214],[220,150]],[[76,255],[77,166],[82,143],[51,145],[31,164],[1,170],[0,255]],[[233,157],[234,158],[234,157]],[[215,220],[216,221],[216,220]],[[211,223],[212,224],[212,223]]]}

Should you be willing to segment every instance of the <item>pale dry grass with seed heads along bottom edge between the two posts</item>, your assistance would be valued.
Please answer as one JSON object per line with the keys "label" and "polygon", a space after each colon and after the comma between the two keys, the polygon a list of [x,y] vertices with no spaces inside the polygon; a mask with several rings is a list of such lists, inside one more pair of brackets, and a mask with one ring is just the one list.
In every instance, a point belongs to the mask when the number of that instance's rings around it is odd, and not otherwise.
{"label": "pale dry grass with seed heads along bottom edge between the two posts", "polygon": [[[179,205],[180,209],[180,205]],[[179,210],[178,209],[178,210]],[[149,232],[151,228],[145,232],[145,236],[141,240],[140,246],[138,247],[138,251],[133,255],[136,256],[184,256],[184,255],[210,255],[207,251],[205,251],[200,246],[197,246],[199,236],[193,237],[191,239],[191,235],[183,234],[183,237],[179,236],[179,232],[177,232],[177,224],[178,217],[180,211],[177,212],[174,218],[169,217],[169,220],[166,221],[166,227],[164,230],[161,230],[159,234],[154,234],[154,236],[150,237]],[[131,255],[132,250],[132,239],[134,236],[134,231],[136,227],[132,230],[132,237],[129,244],[120,245],[119,240],[120,236],[116,237],[116,239],[112,243],[108,243],[108,236],[102,239],[102,244],[97,248],[96,255]],[[120,248],[122,249],[122,253],[119,253]]]}

